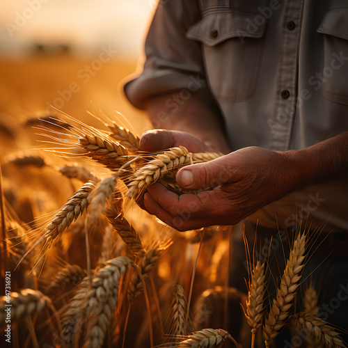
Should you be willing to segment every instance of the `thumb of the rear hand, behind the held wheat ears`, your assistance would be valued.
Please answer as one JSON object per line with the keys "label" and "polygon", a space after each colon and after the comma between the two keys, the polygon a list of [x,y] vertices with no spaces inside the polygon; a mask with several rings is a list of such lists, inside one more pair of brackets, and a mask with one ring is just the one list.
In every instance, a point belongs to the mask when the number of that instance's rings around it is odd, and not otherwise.
{"label": "thumb of the rear hand, behind the held wheat ears", "polygon": [[141,136],[140,147],[143,151],[159,151],[173,148],[175,137],[173,132],[164,129],[152,129]]}

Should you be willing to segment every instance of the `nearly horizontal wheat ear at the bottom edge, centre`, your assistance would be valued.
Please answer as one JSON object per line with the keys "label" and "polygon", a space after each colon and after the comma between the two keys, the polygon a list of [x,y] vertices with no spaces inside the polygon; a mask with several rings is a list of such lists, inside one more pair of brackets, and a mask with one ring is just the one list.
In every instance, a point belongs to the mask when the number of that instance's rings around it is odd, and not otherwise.
{"label": "nearly horizontal wheat ear at the bottom edge, centre", "polygon": [[219,347],[221,342],[226,340],[230,334],[222,329],[203,329],[197,331],[189,337],[180,342],[177,347],[191,347],[191,348],[214,348]]}

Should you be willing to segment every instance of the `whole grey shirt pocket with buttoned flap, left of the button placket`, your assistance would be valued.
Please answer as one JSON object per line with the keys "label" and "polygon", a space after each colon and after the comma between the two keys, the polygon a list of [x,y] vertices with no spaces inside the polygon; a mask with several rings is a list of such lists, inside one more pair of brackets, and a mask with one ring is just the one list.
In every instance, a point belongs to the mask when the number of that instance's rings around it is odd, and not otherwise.
{"label": "whole grey shirt pocket with buttoned flap, left of the button placket", "polygon": [[216,100],[243,102],[253,95],[266,22],[251,13],[212,13],[187,31],[187,38],[203,44],[205,74]]}

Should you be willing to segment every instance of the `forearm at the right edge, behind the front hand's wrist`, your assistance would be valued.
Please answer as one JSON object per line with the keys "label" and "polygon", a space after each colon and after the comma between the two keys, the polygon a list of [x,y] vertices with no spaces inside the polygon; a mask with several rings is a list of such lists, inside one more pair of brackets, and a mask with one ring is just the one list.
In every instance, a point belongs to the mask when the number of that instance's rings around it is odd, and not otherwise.
{"label": "forearm at the right edge, behind the front hand's wrist", "polygon": [[303,150],[287,151],[295,189],[310,184],[347,180],[348,132]]}

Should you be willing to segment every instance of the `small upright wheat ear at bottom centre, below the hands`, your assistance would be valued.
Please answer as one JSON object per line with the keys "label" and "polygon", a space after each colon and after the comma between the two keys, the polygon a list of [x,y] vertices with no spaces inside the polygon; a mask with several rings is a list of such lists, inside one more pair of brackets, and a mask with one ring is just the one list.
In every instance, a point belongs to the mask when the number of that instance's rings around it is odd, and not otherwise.
{"label": "small upright wheat ear at bottom centre, below the hands", "polygon": [[173,335],[187,335],[185,315],[187,312],[187,300],[184,289],[180,284],[175,285],[174,299],[172,303]]}

